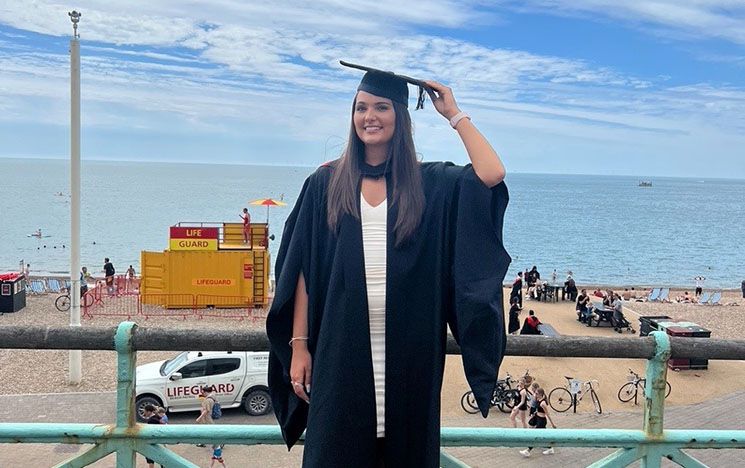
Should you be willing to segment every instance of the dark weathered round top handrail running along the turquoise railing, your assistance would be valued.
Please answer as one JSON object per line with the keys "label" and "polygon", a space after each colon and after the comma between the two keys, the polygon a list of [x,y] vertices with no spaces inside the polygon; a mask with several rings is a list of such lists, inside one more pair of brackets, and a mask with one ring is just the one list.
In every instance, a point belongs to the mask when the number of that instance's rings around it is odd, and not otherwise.
{"label": "dark weathered round top handrail running along the turquoise railing", "polygon": [[[20,327],[0,328],[0,349],[81,349],[113,351],[116,327]],[[136,351],[268,351],[269,339],[261,331],[204,330],[136,327],[132,332]],[[670,337],[673,358],[745,359],[745,340]],[[460,347],[448,337],[448,354],[460,354]],[[655,340],[586,336],[508,336],[508,356],[598,357],[651,359]]]}

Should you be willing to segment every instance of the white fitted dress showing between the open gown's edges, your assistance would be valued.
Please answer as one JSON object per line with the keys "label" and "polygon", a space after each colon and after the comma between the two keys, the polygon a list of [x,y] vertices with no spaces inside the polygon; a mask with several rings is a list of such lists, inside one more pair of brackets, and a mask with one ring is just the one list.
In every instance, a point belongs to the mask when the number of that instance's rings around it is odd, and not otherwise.
{"label": "white fitted dress showing between the open gown's edges", "polygon": [[378,437],[385,437],[385,273],[388,200],[383,200],[378,206],[371,206],[360,194],[360,217],[375,380],[377,431]]}

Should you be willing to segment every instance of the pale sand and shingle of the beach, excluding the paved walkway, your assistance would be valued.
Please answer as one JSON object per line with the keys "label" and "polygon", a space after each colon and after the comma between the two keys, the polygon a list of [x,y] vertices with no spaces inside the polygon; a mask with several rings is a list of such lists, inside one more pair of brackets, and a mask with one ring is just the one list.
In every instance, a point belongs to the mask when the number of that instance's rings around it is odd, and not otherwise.
{"label": "pale sand and shingle of the beach, excluding the paved walkway", "polygon": [[[671,297],[678,295],[671,292]],[[507,296],[507,291],[505,291]],[[69,323],[67,313],[61,313],[54,307],[56,295],[29,296],[27,307],[17,313],[0,316],[2,326],[66,326]],[[739,291],[725,292],[723,303],[740,302]],[[608,327],[588,328],[576,321],[574,304],[569,302],[544,303],[526,300],[525,312],[536,311],[544,323],[550,323],[561,335],[606,336],[613,339],[636,339],[638,335],[618,334]],[[506,308],[505,308],[506,310]],[[745,307],[735,305],[698,306],[691,304],[659,304],[628,302],[625,308],[626,317],[639,329],[637,315],[668,315],[675,319],[686,319],[708,328],[714,338],[745,338]],[[121,317],[95,317],[83,320],[83,327],[111,327],[119,323]],[[145,327],[164,328],[209,328],[209,329],[244,329],[263,330],[263,320],[244,320],[227,318],[150,318],[133,317],[133,320]],[[170,358],[176,352],[141,352],[138,363],[152,362]],[[116,356],[110,351],[83,352],[83,381],[78,386],[65,383],[68,369],[67,351],[36,351],[0,349],[0,394],[17,393],[56,393],[56,392],[98,392],[113,391],[116,385]],[[550,390],[566,384],[564,376],[598,381],[598,394],[605,412],[629,410],[632,403],[621,403],[617,398],[618,389],[626,382],[628,369],[638,373],[645,370],[646,361],[633,359],[579,359],[579,358],[538,358],[513,357],[505,358],[500,376],[509,372],[513,377],[522,375],[526,369],[530,374]],[[686,370],[668,373],[672,393],[668,404],[680,405],[697,403],[714,396],[734,390],[745,389],[745,364],[741,361],[710,361],[708,370]],[[447,358],[445,382],[442,389],[443,419],[461,416],[461,395],[468,390],[463,375],[460,357]],[[636,407],[641,411],[641,407]],[[591,412],[592,403],[582,401],[578,411]],[[490,418],[501,417],[493,412]],[[506,417],[506,416],[505,416]],[[473,416],[475,424],[481,418]]]}

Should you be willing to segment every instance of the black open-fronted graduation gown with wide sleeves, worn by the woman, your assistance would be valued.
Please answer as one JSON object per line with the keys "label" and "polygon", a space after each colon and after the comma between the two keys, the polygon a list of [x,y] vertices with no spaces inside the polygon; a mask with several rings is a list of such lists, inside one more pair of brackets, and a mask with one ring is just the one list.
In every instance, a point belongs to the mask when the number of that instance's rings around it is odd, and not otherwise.
{"label": "black open-fronted graduation gown with wide sleeves, worn by the woman", "polygon": [[[345,215],[326,222],[334,162],[303,185],[277,255],[267,318],[269,389],[288,447],[307,427],[303,466],[368,467],[376,440],[362,229]],[[397,207],[388,208],[386,267],[386,466],[439,466],[440,391],[447,325],[460,343],[466,377],[486,417],[505,329],[502,282],[511,261],[502,245],[508,193],[489,189],[469,166],[422,163],[425,213],[396,247]],[[391,181],[388,176],[388,200]],[[359,207],[359,203],[357,203]],[[300,272],[308,292],[310,405],[289,378],[294,295]]]}

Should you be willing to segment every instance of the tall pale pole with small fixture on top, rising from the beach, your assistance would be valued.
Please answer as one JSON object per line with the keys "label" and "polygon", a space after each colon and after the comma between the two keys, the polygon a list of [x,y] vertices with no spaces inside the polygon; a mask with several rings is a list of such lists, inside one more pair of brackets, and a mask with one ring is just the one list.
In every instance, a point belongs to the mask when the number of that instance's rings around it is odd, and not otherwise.
{"label": "tall pale pole with small fixture on top, rising from the beach", "polygon": [[[70,38],[70,327],[80,327],[80,36],[78,23],[82,16],[73,10]],[[68,383],[82,379],[82,353],[70,350]]]}

